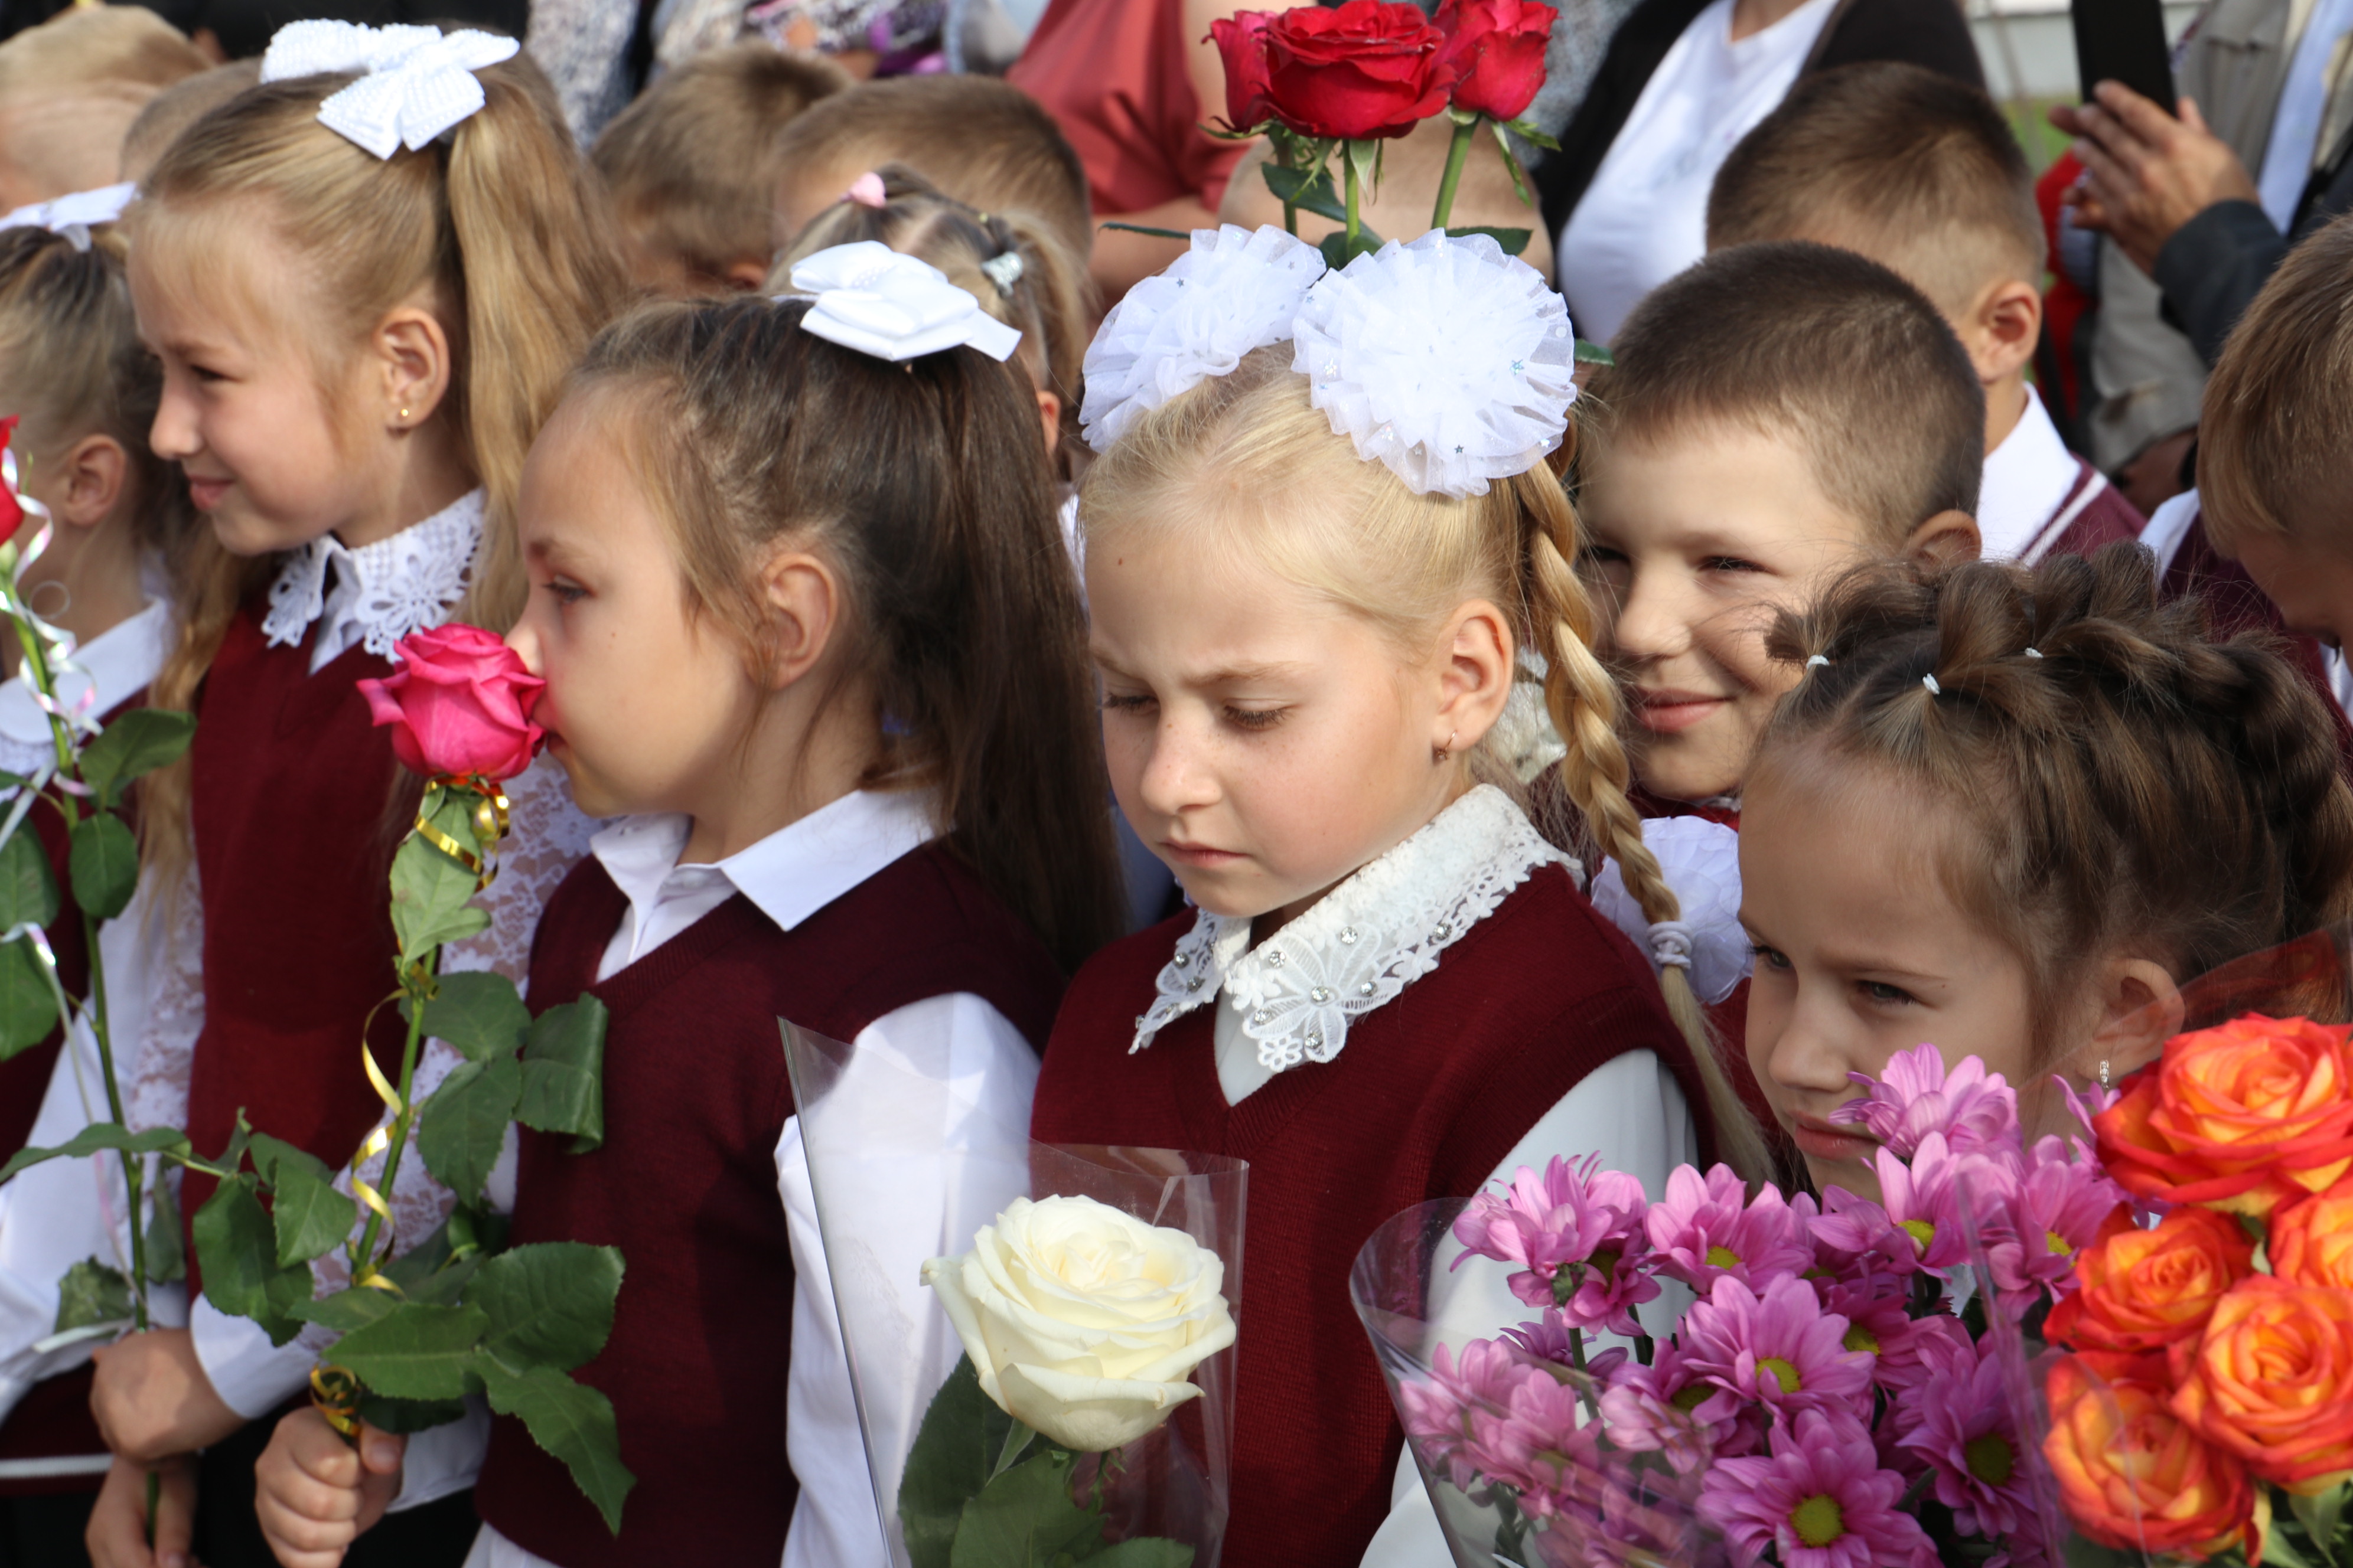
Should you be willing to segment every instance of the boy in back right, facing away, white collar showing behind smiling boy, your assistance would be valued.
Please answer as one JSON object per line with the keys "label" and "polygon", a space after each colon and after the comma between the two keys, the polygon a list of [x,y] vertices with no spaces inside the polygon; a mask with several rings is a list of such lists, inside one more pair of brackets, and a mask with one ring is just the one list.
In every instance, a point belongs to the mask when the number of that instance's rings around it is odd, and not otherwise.
{"label": "boy in back right, facing away, white collar showing behind smiling boy", "polygon": [[1981,89],[1904,63],[1805,78],[1725,160],[1708,247],[1819,240],[1911,280],[1986,388],[1977,527],[2033,564],[2137,538],[2141,515],[2059,440],[2026,381],[2042,331],[2033,169]]}

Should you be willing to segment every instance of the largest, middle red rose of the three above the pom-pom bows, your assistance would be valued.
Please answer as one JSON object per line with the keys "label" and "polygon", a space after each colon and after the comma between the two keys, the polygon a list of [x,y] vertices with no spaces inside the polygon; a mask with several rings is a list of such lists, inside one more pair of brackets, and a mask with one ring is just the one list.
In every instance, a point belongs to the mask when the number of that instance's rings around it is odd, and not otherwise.
{"label": "largest, middle red rose of the three above the pom-pom bows", "polygon": [[[1301,136],[1402,136],[1447,106],[1445,33],[1409,5],[1304,5],[1266,21],[1266,110]],[[1228,92],[1231,101],[1231,92]]]}

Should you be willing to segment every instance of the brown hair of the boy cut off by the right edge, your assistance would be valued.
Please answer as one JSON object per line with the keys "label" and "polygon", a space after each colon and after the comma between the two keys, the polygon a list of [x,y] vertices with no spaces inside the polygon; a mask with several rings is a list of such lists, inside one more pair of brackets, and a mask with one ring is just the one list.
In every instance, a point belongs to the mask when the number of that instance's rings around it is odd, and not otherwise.
{"label": "brown hair of the boy cut off by the right edge", "polygon": [[[2353,503],[2353,216],[2297,242],[2207,376],[2198,421],[2207,536],[2337,529]],[[2353,531],[2337,538],[2353,550]]]}

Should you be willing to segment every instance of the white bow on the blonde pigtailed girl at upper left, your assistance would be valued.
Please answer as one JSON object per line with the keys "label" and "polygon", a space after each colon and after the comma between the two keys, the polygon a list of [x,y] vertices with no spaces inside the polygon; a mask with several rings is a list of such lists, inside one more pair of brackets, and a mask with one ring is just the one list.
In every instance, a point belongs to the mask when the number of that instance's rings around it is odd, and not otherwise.
{"label": "white bow on the blonde pigtailed girl at upper left", "polygon": [[376,158],[412,153],[480,113],[475,71],[515,59],[513,38],[464,28],[369,28],[355,21],[289,21],[261,56],[261,80],[358,71],[360,80],[318,106],[318,122]]}

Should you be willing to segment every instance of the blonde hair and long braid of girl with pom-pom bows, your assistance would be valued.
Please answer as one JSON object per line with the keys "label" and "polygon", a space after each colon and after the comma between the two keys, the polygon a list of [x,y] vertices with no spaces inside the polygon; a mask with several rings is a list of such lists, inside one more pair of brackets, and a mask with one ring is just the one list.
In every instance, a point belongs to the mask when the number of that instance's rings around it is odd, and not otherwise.
{"label": "blonde hair and long braid of girl with pom-pom bows", "polygon": [[[1520,644],[1544,654],[1544,701],[1567,743],[1560,788],[1584,813],[1591,844],[1619,863],[1647,919],[1678,919],[1675,893],[1626,799],[1619,691],[1593,656],[1593,602],[1572,567],[1577,510],[1560,480],[1539,463],[1485,496],[1417,496],[1332,433],[1289,362],[1289,343],[1259,348],[1231,376],[1205,381],[1120,435],[1080,484],[1089,548],[1118,529],[1151,527],[1148,520],[1198,517],[1179,496],[1214,475],[1226,508],[1242,498],[1254,505],[1254,559],[1365,616],[1400,646],[1426,639],[1466,597],[1494,599]],[[1520,795],[1497,741],[1489,733],[1464,766],[1480,783]],[[1772,1175],[1765,1140],[1732,1088],[1687,976],[1668,966],[1659,985],[1692,1046],[1720,1157],[1751,1180]]]}

